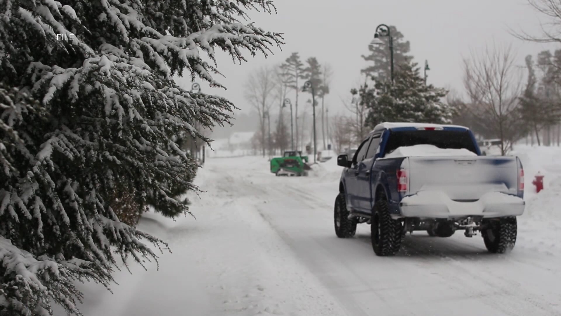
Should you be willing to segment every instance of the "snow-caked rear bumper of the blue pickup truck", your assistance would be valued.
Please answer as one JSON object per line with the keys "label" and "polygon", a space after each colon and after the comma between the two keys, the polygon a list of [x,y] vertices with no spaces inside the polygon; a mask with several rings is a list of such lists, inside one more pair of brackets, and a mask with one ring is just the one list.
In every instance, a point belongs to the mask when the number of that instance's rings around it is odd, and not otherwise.
{"label": "snow-caked rear bumper of the blue pickup truck", "polygon": [[501,192],[485,193],[474,202],[458,202],[450,200],[442,191],[420,191],[399,203],[401,217],[417,218],[518,216],[524,213],[525,206],[522,198]]}

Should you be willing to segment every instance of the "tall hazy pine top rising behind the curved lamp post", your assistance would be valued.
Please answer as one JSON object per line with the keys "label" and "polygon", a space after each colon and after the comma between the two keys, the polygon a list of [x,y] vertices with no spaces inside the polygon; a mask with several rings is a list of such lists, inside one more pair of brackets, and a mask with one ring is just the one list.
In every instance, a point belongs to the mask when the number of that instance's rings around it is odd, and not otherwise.
{"label": "tall hazy pine top rising behind the curved lamp post", "polygon": [[[413,56],[407,55],[410,52],[410,43],[405,41],[403,34],[397,30],[396,26],[390,26],[390,34],[393,37],[393,58],[394,67],[401,64],[409,64],[413,60]],[[373,65],[367,66],[361,70],[361,73],[373,77],[376,82],[390,80],[390,51],[389,37],[379,37],[383,44],[369,45],[370,55],[362,55],[367,62]]]}

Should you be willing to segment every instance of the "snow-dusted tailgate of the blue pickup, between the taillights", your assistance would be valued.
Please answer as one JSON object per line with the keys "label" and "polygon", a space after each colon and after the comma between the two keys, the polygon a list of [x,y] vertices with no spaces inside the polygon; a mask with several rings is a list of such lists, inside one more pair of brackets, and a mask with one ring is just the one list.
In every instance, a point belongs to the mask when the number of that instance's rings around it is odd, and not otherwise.
{"label": "snow-dusted tailgate of the blue pickup, between the taillights", "polygon": [[517,195],[516,157],[408,157],[408,194],[440,191],[453,201],[476,201],[489,192]]}

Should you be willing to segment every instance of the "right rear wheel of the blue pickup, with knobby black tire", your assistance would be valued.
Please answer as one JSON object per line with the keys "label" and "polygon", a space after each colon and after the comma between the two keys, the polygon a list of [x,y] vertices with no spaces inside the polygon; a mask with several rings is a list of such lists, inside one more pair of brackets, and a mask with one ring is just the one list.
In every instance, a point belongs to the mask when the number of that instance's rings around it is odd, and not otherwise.
{"label": "right rear wheel of the blue pickup, with knobby black tire", "polygon": [[503,254],[514,248],[517,234],[516,217],[490,220],[486,224],[481,235],[489,252]]}

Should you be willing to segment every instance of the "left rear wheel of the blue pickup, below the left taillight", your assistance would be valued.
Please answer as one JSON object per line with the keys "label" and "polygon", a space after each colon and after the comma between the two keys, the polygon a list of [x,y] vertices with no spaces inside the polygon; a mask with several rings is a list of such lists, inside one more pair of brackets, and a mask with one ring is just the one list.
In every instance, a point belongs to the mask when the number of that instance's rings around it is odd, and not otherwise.
{"label": "left rear wheel of the blue pickup, below the left taillight", "polygon": [[401,247],[403,226],[401,221],[392,219],[389,214],[388,200],[381,196],[374,206],[374,214],[370,224],[372,248],[378,256],[393,256]]}

